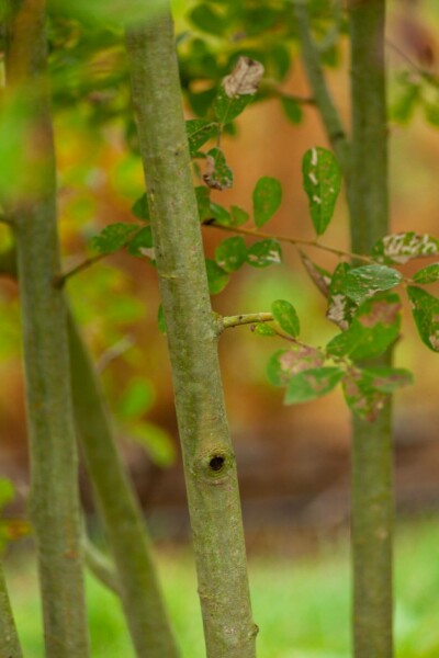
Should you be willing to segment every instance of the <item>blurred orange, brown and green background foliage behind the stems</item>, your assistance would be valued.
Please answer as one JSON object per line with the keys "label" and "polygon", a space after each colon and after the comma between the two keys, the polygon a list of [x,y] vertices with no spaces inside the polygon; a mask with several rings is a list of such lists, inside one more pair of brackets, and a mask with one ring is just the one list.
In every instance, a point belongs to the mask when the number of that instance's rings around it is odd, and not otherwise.
{"label": "blurred orange, brown and green background foliage behind the stems", "polygon": [[[131,19],[136,20],[138,12],[145,11],[145,2],[124,0],[111,7],[109,11],[108,2],[101,0],[48,2],[48,61],[65,271],[97,254],[92,237],[105,225],[134,220],[132,206],[144,189],[123,23],[130,12]],[[153,13],[159,11],[160,0],[147,7]],[[314,36],[328,83],[348,124],[347,23],[338,7],[338,2],[329,0],[309,1]],[[257,180],[261,175],[275,177],[283,185],[283,202],[264,230],[313,238],[301,185],[301,161],[309,147],[328,145],[302,70],[291,2],[176,0],[175,19],[187,118],[212,115],[216,89],[239,55],[250,56],[266,67],[259,93],[245,113],[227,126],[228,134],[223,139],[234,171],[234,189],[214,192],[213,200],[250,212]],[[438,20],[435,0],[390,3],[394,232],[437,235]],[[19,98],[7,100],[4,87],[1,88],[2,198],[20,190],[21,156],[15,152],[14,143],[25,121],[25,104]],[[206,256],[212,258],[224,235],[209,227],[203,228],[203,235]],[[325,242],[348,249],[342,198]],[[11,245],[9,228],[0,224],[0,252]],[[268,270],[246,266],[235,273],[225,291],[213,298],[214,309],[224,315],[264,311],[273,299],[289,299],[299,311],[304,339],[319,345],[335,334],[325,319],[325,302],[309,283],[294,248],[285,246],[283,256],[280,265]],[[335,264],[328,254],[311,256],[322,266]],[[410,274],[409,265],[405,273]],[[184,489],[166,341],[157,324],[155,270],[145,259],[121,251],[71,277],[67,291],[101,372],[121,446],[153,530],[159,537],[185,535]],[[403,389],[395,399],[398,502],[403,511],[437,510],[437,373],[430,365],[434,356],[417,338],[408,314],[403,334],[396,348],[396,365],[414,372],[415,386]],[[266,379],[268,358],[282,347],[277,340],[255,336],[243,327],[226,332],[219,349],[249,546],[251,549],[260,544],[267,551],[278,549],[278,540],[273,538],[278,533],[283,553],[291,551],[291,533],[293,544],[301,545],[296,531],[311,530],[320,537],[322,533],[346,526],[350,421],[339,392],[306,406],[282,406],[282,393],[270,388]],[[18,522],[29,481],[20,350],[18,288],[14,282],[2,277],[0,462],[2,474],[15,481],[18,494],[12,507],[5,508],[8,527],[12,527],[13,520]],[[9,500],[2,491],[0,503],[5,504]],[[90,512],[92,502],[86,481],[82,491]],[[157,508],[162,510],[161,517]],[[26,532],[25,524],[20,527],[21,536]],[[272,532],[267,534],[267,527]],[[346,655],[340,647],[335,647],[333,654],[319,654],[317,649],[306,655]],[[407,650],[401,656],[432,657],[435,654],[428,650]],[[36,649],[33,655],[37,655]],[[295,656],[273,651],[266,655]]]}

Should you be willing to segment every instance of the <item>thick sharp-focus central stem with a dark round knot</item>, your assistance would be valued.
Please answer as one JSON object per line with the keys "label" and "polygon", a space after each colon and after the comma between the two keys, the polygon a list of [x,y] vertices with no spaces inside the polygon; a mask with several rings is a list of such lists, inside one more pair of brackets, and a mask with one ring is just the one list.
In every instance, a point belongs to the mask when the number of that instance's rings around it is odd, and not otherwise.
{"label": "thick sharp-focus central stem with a dark round knot", "polygon": [[126,37],[167,325],[209,658],[254,658],[235,456],[224,407],[172,21]]}

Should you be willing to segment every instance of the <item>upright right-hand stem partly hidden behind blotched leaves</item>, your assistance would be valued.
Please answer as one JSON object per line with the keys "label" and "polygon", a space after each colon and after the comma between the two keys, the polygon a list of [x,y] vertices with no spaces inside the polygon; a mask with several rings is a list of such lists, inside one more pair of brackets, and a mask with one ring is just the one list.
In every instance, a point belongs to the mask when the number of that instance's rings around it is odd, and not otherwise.
{"label": "upright right-hand stem partly hidden behind blotched leaves", "polygon": [[[369,253],[389,232],[384,64],[385,0],[350,0],[351,245]],[[390,365],[391,354],[382,360]],[[353,419],[353,644],[356,658],[391,658],[392,408],[372,424]]]}

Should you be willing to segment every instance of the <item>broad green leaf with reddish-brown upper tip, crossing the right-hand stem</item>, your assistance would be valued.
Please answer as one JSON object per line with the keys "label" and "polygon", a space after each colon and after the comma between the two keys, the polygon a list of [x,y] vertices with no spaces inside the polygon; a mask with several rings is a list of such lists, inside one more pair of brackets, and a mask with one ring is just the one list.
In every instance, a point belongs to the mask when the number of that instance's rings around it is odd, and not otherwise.
{"label": "broad green leaf with reddish-brown upper tip, crossing the right-hand stem", "polygon": [[349,328],[327,344],[334,356],[360,361],[380,356],[399,336],[401,299],[383,293],[359,306]]}

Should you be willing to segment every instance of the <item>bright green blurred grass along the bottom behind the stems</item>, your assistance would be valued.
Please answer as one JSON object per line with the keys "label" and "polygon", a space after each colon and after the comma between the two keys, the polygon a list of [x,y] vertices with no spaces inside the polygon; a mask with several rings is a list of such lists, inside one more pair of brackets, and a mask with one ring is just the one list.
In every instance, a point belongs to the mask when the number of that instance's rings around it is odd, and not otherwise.
{"label": "bright green blurred grass along the bottom behind the stems", "polygon": [[[397,658],[439,656],[439,520],[401,527],[396,541]],[[184,658],[204,658],[195,571],[188,551],[158,556]],[[258,658],[348,658],[349,564],[346,542],[309,556],[250,559]],[[9,570],[15,617],[27,658],[43,656],[34,565]],[[93,658],[134,658],[115,597],[87,580]]]}

